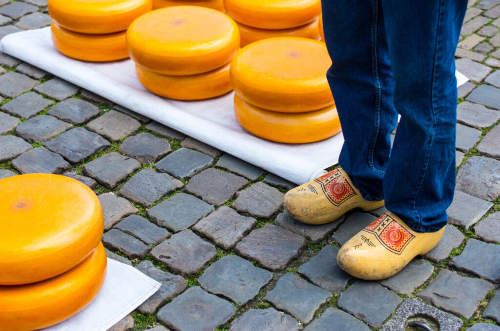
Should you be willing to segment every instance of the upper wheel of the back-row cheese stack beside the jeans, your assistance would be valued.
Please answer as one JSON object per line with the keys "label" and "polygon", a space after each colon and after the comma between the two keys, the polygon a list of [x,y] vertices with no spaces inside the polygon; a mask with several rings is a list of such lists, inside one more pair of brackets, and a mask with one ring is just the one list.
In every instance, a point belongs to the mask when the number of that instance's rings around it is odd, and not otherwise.
{"label": "upper wheel of the back-row cheese stack beside the jeans", "polygon": [[319,16],[320,0],[224,0],[235,21],[261,29],[288,29]]}

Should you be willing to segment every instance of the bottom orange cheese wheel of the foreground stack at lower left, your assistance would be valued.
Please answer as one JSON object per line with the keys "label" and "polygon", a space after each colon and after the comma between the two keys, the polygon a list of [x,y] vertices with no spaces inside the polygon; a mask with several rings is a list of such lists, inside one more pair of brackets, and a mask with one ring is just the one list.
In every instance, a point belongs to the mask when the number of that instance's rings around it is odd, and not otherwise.
{"label": "bottom orange cheese wheel of the foreground stack at lower left", "polygon": [[0,331],[38,330],[75,315],[99,293],[106,265],[104,246],[99,243],[83,262],[62,275],[34,284],[0,286]]}

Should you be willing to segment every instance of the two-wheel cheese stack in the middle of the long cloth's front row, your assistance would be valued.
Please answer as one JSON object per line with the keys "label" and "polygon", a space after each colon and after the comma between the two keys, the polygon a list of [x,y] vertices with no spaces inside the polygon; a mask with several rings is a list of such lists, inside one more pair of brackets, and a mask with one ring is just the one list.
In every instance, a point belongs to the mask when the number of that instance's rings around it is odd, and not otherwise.
{"label": "two-wheel cheese stack in the middle of the long cloth's front row", "polygon": [[128,52],[140,83],[154,94],[200,100],[229,92],[229,62],[239,48],[236,23],[205,7],[173,6],[130,24]]}

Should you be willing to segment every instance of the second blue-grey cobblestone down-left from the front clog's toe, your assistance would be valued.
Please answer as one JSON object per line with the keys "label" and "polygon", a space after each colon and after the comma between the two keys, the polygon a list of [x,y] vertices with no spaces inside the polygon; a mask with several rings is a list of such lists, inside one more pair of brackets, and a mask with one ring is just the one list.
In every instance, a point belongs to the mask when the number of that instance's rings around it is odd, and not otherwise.
{"label": "second blue-grey cobblestone down-left from the front clog's toe", "polygon": [[265,295],[264,300],[301,322],[309,323],[314,318],[314,313],[332,297],[328,291],[286,273],[278,279],[276,286]]}

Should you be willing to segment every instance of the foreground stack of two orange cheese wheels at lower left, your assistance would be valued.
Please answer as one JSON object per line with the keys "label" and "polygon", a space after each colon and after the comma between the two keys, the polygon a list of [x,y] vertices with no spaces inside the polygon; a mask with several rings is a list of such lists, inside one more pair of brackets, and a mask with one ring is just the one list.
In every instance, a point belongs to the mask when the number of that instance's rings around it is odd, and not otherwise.
{"label": "foreground stack of two orange cheese wheels at lower left", "polygon": [[0,180],[0,330],[38,330],[82,310],[106,274],[97,196],[59,175]]}

